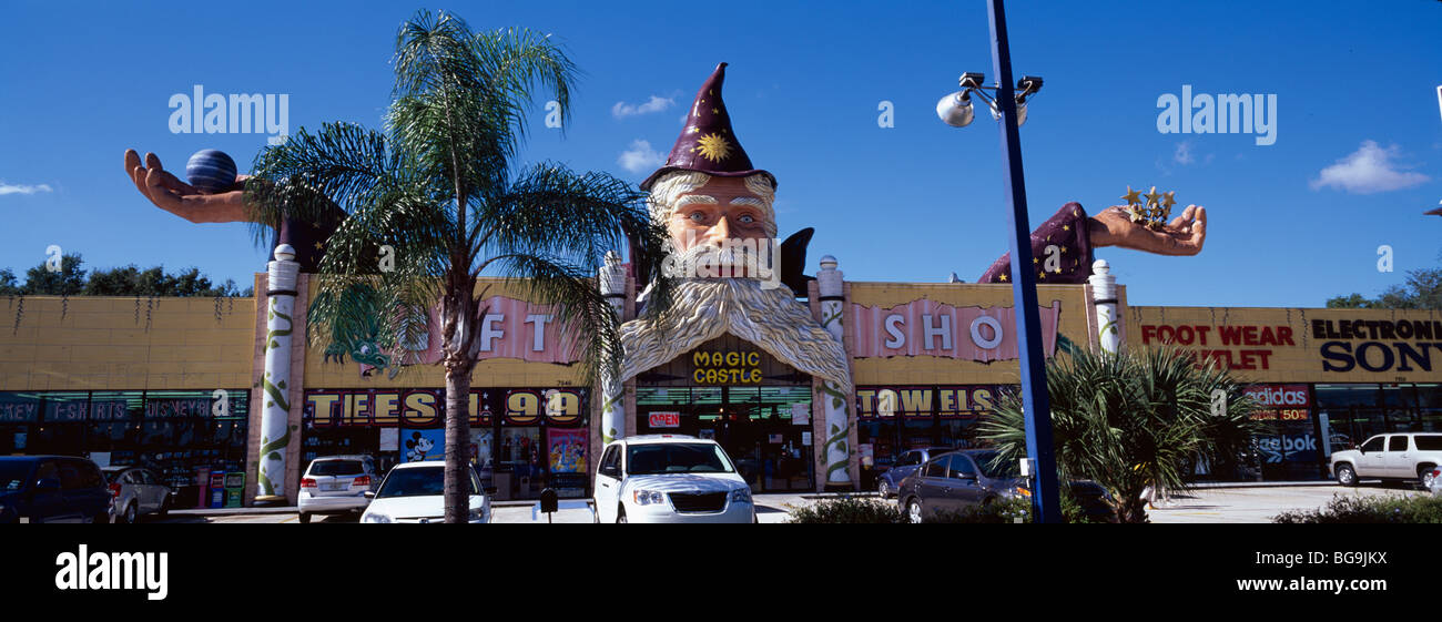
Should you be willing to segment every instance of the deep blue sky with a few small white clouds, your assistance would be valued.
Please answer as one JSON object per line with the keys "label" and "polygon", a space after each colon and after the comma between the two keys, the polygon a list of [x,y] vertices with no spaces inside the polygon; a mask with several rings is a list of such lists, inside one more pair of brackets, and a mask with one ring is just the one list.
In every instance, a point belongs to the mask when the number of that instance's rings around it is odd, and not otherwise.
{"label": "deep blue sky with a few small white clouds", "polygon": [[[1007,251],[998,132],[985,112],[949,128],[934,105],[965,71],[992,79],[986,7],[895,4],[433,9],[477,30],[554,33],[585,72],[564,137],[538,105],[528,158],[640,181],[655,163],[637,147],[663,157],[725,60],[737,135],[780,181],[782,236],[816,227],[808,272],[831,253],[857,281],[953,271],[975,281]],[[182,170],[192,153],[219,148],[248,168],[262,134],[170,132],[170,96],[195,85],[287,94],[291,131],[379,127],[395,30],[415,9],[6,3],[17,27],[0,37],[0,266],[23,271],[59,245],[91,268],[193,265],[245,287],[267,258],[245,226],[156,209],[124,176],[123,151],[154,151]],[[1442,199],[1442,3],[1014,1],[1008,17],[1015,73],[1045,79],[1021,132],[1034,226],[1069,200],[1093,213],[1119,203],[1128,184],[1174,190],[1210,213],[1198,256],[1097,252],[1132,304],[1317,307],[1442,261],[1442,219],[1422,215]],[[1156,101],[1182,85],[1276,95],[1276,143],[1161,134]],[[883,101],[891,128],[878,127]],[[649,112],[622,115],[617,104]],[[1390,274],[1377,269],[1381,245],[1393,249]]]}

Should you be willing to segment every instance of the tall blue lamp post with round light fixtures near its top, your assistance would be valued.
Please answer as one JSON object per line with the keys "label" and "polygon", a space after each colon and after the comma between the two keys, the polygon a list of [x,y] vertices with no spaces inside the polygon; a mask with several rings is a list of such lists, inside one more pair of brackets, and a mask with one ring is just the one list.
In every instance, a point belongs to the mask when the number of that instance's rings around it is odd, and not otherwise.
{"label": "tall blue lamp post with round light fixtures near its top", "polygon": [[[982,98],[992,117],[999,120],[1002,167],[1007,203],[1011,206],[1011,292],[1017,314],[1017,350],[1021,373],[1021,406],[1027,420],[1027,459],[1034,482],[1031,507],[1038,523],[1061,523],[1061,497],[1057,490],[1056,448],[1051,442],[1051,405],[1047,399],[1045,356],[1041,351],[1041,317],[1037,311],[1037,275],[1032,271],[1031,225],[1027,219],[1027,184],[1021,170],[1021,135],[1027,121],[1027,98],[1041,89],[1041,78],[1024,76],[1011,82],[1011,48],[1007,42],[1007,12],[1002,0],[988,0],[992,35],[992,66],[996,85],[983,86],[982,73],[963,73],[962,91],[936,104],[936,114],[947,125],[966,127],[976,117],[970,96]],[[988,95],[994,91],[994,95]]]}

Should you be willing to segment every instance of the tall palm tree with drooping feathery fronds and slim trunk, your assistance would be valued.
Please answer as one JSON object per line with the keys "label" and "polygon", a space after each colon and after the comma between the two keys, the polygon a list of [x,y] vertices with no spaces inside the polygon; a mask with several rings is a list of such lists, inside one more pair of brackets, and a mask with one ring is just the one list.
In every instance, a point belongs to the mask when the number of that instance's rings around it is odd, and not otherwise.
{"label": "tall palm tree with drooping feathery fronds and slim trunk", "polygon": [[[379,324],[381,348],[394,351],[420,338],[427,311],[440,305],[446,521],[463,523],[467,396],[489,289],[477,291],[480,276],[503,276],[554,305],[555,321],[577,337],[588,382],[620,356],[607,346],[617,343],[617,323],[597,291],[596,266],[630,236],[659,274],[663,230],[650,223],[643,196],[619,179],[521,166],[538,91],[554,95],[549,108],[562,124],[570,112],[577,69],[549,36],[474,33],[454,14],[420,12],[401,26],[395,48],[385,131],[348,122],[314,134],[301,128],[257,157],[260,183],[248,184],[248,203],[258,232],[283,216],[320,222],[336,206],[345,212],[324,243],[313,338],[324,343],[332,327],[369,321]],[[366,288],[373,297],[353,295]],[[362,298],[371,302],[353,302]]]}

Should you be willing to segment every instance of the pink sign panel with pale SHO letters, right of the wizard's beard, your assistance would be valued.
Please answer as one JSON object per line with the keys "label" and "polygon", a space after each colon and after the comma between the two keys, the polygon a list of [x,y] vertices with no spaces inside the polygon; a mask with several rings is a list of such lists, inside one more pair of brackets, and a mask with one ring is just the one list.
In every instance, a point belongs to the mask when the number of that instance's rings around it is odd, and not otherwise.
{"label": "pink sign panel with pale SHO letters, right of the wizard's beard", "polygon": [[[982,363],[1015,360],[1017,330],[1011,307],[952,307],[930,299],[891,308],[851,305],[857,359],[934,356]],[[1041,311],[1041,343],[1057,351],[1061,301]]]}

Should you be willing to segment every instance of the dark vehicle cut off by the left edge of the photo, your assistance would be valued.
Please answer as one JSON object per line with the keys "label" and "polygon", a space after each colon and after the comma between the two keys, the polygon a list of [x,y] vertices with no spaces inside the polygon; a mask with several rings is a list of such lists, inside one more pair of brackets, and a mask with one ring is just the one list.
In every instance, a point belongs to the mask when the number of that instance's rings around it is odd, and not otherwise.
{"label": "dark vehicle cut off by the left edge of the photo", "polygon": [[0,523],[110,523],[99,466],[72,456],[0,458]]}

